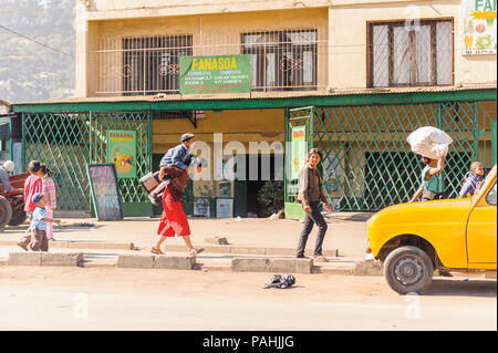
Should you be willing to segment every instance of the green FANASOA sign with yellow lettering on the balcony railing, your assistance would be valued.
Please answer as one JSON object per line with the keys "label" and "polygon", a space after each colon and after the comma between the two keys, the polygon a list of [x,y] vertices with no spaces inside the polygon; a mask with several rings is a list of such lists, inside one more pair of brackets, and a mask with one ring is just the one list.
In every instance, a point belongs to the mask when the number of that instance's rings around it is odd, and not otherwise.
{"label": "green FANASOA sign with yellow lettering on the balcony railing", "polygon": [[180,58],[180,94],[249,93],[250,77],[250,55]]}

